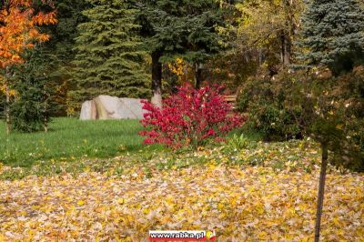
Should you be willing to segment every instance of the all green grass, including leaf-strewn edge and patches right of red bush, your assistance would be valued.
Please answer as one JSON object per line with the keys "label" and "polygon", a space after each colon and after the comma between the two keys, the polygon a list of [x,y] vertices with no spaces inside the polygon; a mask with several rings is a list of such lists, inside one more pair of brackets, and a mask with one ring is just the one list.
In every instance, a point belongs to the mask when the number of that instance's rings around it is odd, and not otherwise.
{"label": "all green grass, including leaf-strewn edge and patches right of red bush", "polygon": [[[58,174],[63,171],[77,173],[83,171],[88,160],[96,163],[96,171],[103,171],[108,165],[104,161],[116,156],[133,157],[134,162],[148,161],[156,153],[168,153],[162,146],[144,146],[143,137],[138,135],[142,126],[137,120],[80,121],[76,118],[55,118],[49,132],[32,134],[12,132],[5,134],[5,123],[0,121],[0,168],[1,164],[14,167],[23,177],[31,174]],[[248,130],[234,130],[234,135],[244,140],[256,142],[260,136]],[[239,140],[237,141],[239,143]],[[211,144],[216,146],[217,144]],[[163,151],[163,152],[161,152]],[[182,153],[191,153],[187,148]],[[16,170],[16,168],[25,168]],[[4,175],[4,174],[3,174]]]}

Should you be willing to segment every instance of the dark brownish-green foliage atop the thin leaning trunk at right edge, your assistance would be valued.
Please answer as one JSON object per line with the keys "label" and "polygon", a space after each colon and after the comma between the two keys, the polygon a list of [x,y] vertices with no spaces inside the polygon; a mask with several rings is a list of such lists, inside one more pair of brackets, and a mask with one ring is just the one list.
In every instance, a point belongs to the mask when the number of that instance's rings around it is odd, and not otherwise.
{"label": "dark brownish-green foliage atop the thin leaning trunk at right edge", "polygon": [[327,142],[330,163],[364,171],[364,67],[341,76],[307,72],[286,92],[285,102],[301,107],[306,135]]}

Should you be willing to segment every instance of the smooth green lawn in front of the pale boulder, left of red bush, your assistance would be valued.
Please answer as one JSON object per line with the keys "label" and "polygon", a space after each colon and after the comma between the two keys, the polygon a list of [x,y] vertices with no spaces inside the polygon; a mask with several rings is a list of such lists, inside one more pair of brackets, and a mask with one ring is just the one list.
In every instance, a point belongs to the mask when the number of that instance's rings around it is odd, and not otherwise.
{"label": "smooth green lawn in front of the pale boulder, left of red bush", "polygon": [[141,128],[136,120],[55,118],[48,133],[6,136],[5,123],[0,122],[0,163],[26,167],[41,160],[118,156],[143,146],[137,134]]}

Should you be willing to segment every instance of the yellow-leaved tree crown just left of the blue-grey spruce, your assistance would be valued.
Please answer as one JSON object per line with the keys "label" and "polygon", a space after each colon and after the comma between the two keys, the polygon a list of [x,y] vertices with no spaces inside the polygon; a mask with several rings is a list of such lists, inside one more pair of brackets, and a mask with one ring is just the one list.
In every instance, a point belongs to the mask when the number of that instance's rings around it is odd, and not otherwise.
{"label": "yellow-leaved tree crown just left of the blue-grey spruce", "polygon": [[[265,47],[268,51],[282,51],[291,55],[292,41],[300,25],[304,9],[302,0],[247,0],[238,4],[239,48],[245,50]],[[283,51],[283,48],[286,48]],[[282,56],[288,64],[290,56]],[[268,60],[272,62],[273,59]]]}

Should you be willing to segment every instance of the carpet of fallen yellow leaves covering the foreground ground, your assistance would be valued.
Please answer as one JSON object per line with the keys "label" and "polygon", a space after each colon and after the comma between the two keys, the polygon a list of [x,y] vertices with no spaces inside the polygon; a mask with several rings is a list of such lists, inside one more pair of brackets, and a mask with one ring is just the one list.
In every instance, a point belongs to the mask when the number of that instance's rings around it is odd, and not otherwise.
{"label": "carpet of fallen yellow leaves covering the foreground ground", "polygon": [[[130,166],[126,157],[117,157],[125,161],[120,174],[112,166],[96,172],[91,164],[76,176],[65,172],[0,181],[0,241],[147,241],[149,229],[215,229],[217,241],[312,241],[317,147],[254,148],[259,150],[258,166],[229,162],[247,157],[248,149],[234,157],[202,150],[175,158],[167,169],[160,165],[167,166],[166,156]],[[288,152],[298,160],[288,161]],[[210,160],[176,165],[202,156]],[[269,166],[279,157],[287,160],[281,170]],[[308,172],[295,165],[299,162],[312,168]],[[362,174],[330,167],[322,236],[324,241],[364,241]]]}

